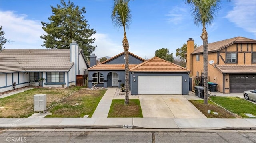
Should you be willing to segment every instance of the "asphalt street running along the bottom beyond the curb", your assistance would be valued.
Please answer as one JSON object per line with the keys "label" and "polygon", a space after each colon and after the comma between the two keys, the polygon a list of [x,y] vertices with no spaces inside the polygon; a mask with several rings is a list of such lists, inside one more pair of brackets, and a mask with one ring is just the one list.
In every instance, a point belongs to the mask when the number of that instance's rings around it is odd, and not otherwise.
{"label": "asphalt street running along the bottom beyond the curb", "polygon": [[1,132],[1,143],[256,143],[255,131],[68,131]]}

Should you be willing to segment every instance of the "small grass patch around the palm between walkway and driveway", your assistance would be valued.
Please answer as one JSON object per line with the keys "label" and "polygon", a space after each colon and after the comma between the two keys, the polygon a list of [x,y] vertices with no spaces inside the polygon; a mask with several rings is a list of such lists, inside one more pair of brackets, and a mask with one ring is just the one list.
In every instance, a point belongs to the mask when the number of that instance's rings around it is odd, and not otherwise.
{"label": "small grass patch around the palm between walkway and driveway", "polygon": [[140,100],[130,99],[129,105],[124,104],[124,99],[112,100],[108,117],[143,117]]}

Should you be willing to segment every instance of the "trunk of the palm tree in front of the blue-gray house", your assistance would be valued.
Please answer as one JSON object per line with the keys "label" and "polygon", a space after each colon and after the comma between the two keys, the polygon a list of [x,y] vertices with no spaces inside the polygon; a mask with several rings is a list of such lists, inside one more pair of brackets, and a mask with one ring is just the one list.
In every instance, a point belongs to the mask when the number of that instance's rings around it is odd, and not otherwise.
{"label": "trunk of the palm tree in front of the blue-gray house", "polygon": [[129,43],[126,37],[126,33],[124,33],[123,39],[123,47],[124,47],[124,57],[125,57],[125,100],[124,104],[129,104]]}

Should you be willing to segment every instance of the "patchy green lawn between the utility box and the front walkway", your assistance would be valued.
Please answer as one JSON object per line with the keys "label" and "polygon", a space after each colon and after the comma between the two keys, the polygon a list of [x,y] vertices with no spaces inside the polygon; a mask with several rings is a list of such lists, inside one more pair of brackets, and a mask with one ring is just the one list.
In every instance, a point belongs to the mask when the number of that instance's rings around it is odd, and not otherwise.
{"label": "patchy green lawn between the utility box and the front walkway", "polygon": [[106,90],[79,90],[69,96],[49,111],[52,115],[46,117],[84,117],[92,114]]}

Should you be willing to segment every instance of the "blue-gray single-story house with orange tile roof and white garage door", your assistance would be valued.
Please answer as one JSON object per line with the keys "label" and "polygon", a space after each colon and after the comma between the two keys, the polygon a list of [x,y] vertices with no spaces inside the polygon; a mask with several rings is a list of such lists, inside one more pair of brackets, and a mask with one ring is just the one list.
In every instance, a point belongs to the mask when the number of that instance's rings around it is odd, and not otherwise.
{"label": "blue-gray single-story house with orange tile roof and white garage door", "polygon": [[[90,56],[91,63],[96,60]],[[95,59],[95,60],[94,60]],[[94,62],[95,63],[95,62]],[[89,87],[125,83],[124,52],[88,69]],[[189,70],[158,57],[145,61],[129,52],[131,94],[188,94]]]}

